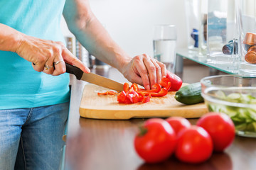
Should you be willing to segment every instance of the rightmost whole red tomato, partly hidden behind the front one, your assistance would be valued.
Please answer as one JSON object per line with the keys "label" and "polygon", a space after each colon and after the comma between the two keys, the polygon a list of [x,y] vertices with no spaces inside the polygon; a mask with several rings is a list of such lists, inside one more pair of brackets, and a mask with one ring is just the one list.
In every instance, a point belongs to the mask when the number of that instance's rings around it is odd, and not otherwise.
{"label": "rightmost whole red tomato, partly hidden behind the front one", "polygon": [[222,152],[235,138],[235,125],[224,113],[207,113],[196,125],[204,128],[213,140],[213,149]]}

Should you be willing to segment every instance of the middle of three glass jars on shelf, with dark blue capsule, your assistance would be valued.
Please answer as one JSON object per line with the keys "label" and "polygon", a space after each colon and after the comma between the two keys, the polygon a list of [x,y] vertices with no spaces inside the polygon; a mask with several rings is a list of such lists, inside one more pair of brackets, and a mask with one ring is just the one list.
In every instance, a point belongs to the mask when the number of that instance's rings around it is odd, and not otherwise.
{"label": "middle of three glass jars on shelf, with dark blue capsule", "polygon": [[237,73],[235,0],[208,0],[207,28],[207,62]]}

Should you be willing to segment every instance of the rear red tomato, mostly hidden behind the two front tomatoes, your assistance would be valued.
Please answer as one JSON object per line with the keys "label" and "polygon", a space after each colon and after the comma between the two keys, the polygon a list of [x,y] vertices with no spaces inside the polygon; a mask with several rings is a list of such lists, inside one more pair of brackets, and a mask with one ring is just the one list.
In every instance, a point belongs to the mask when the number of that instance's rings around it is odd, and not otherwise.
{"label": "rear red tomato, mostly hidden behind the two front tomatoes", "polygon": [[178,135],[181,130],[191,127],[191,123],[186,118],[171,117],[167,118],[166,121],[171,125],[171,128],[174,129],[176,135]]}

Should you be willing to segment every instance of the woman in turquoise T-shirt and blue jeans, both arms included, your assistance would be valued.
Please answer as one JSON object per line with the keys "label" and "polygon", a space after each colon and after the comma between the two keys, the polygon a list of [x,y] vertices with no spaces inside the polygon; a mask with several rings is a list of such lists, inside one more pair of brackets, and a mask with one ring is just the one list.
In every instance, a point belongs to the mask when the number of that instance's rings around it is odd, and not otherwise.
{"label": "woman in turquoise T-shirt and blue jeans, both arms included", "polygon": [[65,62],[90,72],[63,44],[62,14],[90,54],[129,81],[150,89],[166,75],[148,55],[127,55],[87,0],[0,0],[0,169],[58,169],[70,98]]}

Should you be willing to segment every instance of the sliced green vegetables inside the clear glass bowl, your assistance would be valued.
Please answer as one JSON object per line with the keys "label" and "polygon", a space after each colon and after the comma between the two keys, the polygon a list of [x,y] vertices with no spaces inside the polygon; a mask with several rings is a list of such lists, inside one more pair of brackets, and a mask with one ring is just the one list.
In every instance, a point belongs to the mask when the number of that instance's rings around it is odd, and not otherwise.
{"label": "sliced green vegetables inside the clear glass bowl", "polygon": [[[233,103],[256,104],[256,98],[250,94],[233,93],[226,96],[223,91],[217,91],[215,96]],[[209,102],[208,110],[229,115],[238,131],[256,132],[256,107],[226,106]]]}

